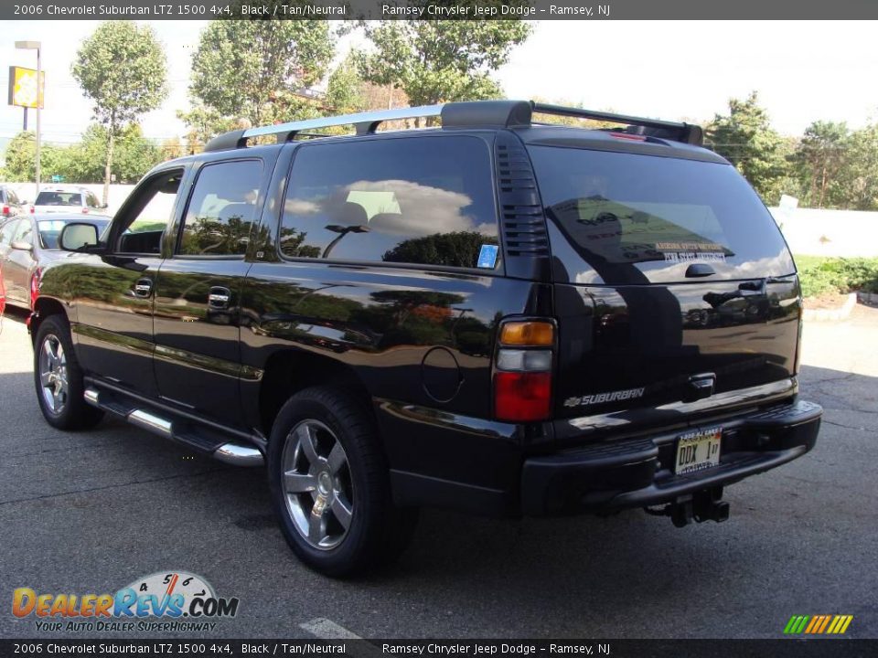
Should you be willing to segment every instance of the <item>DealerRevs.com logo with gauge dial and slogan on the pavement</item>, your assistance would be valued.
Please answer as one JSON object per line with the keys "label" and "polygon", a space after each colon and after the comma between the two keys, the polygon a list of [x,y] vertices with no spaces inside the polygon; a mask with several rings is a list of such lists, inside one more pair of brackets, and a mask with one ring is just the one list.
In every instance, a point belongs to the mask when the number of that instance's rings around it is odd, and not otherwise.
{"label": "DealerRevs.com logo with gauge dial and slogan on the pavement", "polygon": [[12,614],[33,617],[37,631],[213,631],[234,617],[239,600],[218,597],[187,571],[160,571],[115,594],[50,594],[17,588]]}

